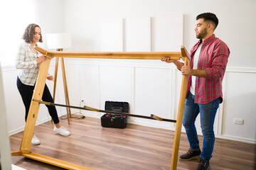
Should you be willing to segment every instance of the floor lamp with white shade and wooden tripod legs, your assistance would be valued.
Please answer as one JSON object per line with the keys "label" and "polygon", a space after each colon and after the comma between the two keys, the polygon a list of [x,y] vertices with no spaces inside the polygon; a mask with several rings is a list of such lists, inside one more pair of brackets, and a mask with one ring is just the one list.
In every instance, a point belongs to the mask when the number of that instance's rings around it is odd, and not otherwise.
{"label": "floor lamp with white shade and wooden tripod legs", "polygon": [[[56,49],[57,51],[63,51],[63,48],[71,47],[71,38],[69,33],[48,33],[46,34],[47,47],[48,49]],[[53,86],[53,101],[55,101],[55,90],[57,83],[57,74],[58,74],[58,60],[59,57],[55,57],[55,74],[54,74],[54,86]],[[65,77],[65,65],[63,57],[60,57],[60,64],[63,74],[63,85],[65,92],[65,103],[70,105],[68,97],[68,86],[67,79]],[[67,108],[67,119],[68,125],[70,124],[71,112],[70,108]]]}

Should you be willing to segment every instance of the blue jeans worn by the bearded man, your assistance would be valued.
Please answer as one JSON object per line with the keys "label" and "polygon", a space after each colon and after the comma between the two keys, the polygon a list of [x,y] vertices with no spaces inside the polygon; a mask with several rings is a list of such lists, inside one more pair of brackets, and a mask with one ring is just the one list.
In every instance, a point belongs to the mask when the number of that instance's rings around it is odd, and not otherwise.
{"label": "blue jeans worn by the bearded man", "polygon": [[196,117],[198,116],[198,113],[200,113],[201,130],[203,132],[203,150],[200,156],[203,159],[210,159],[212,157],[215,141],[213,124],[220,104],[220,98],[207,104],[198,104],[194,101],[195,96],[191,94],[191,92],[188,92],[182,123],[185,127],[191,149],[200,149],[195,126]]}

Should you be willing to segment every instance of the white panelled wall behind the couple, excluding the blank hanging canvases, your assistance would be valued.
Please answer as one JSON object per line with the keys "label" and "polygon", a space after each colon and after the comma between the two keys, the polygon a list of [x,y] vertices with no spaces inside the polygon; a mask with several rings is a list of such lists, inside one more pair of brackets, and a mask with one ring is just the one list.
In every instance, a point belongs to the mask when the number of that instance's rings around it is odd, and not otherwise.
{"label": "white panelled wall behind the couple, excluding the blank hanging canvases", "polygon": [[[68,32],[72,36],[70,51],[100,51],[100,22],[108,18],[152,17],[183,14],[183,45],[189,50],[197,41],[194,33],[198,13],[210,11],[219,18],[215,35],[230,47],[230,59],[223,81],[224,102],[215,119],[217,137],[256,143],[255,98],[256,46],[255,1],[40,1],[38,20],[44,33]],[[231,6],[231,7],[230,7]],[[50,10],[49,10],[50,8]],[[154,40],[153,40],[154,41]],[[42,45],[45,46],[45,43]],[[243,59],[243,60],[241,60]],[[53,63],[50,72],[53,73]],[[70,104],[79,106],[80,98],[86,98],[88,106],[104,108],[106,100],[128,101],[131,113],[164,118],[176,118],[181,75],[171,64],[160,61],[139,60],[65,60]],[[22,130],[23,104],[16,90],[16,70],[2,69],[6,113],[9,133]],[[119,81],[113,77],[120,77]],[[107,81],[110,81],[106,84]],[[117,83],[120,83],[117,86]],[[52,83],[49,84],[50,88]],[[52,88],[51,88],[52,89]],[[64,103],[63,85],[58,75],[56,102]],[[72,91],[71,91],[72,89]],[[73,90],[75,89],[75,90]],[[16,107],[13,107],[16,103]],[[48,120],[45,107],[41,107],[38,123]],[[65,109],[58,108],[59,113]],[[100,118],[101,114],[83,112]],[[15,117],[15,119],[14,119]],[[244,119],[243,125],[233,124],[233,118]],[[174,130],[174,124],[154,120],[130,118],[131,123]],[[197,122],[197,126],[199,124]],[[200,130],[200,128],[199,128]]]}

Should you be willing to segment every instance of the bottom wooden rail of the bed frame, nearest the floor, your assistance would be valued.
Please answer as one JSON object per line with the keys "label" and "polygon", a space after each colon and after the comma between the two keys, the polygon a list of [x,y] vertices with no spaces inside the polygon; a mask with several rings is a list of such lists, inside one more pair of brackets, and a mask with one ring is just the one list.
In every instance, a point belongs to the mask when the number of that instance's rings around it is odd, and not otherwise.
{"label": "bottom wooden rail of the bed frame, nearest the floor", "polygon": [[92,170],[92,169],[89,169],[89,168],[86,168],[86,167],[83,167],[83,166],[80,166],[80,165],[77,165],[77,164],[71,164],[69,162],[61,161],[60,159],[55,159],[55,158],[52,158],[52,157],[46,157],[42,154],[31,153],[31,154],[22,154],[22,156],[27,157],[29,159],[34,159],[36,161],[43,162],[43,163],[46,163],[46,164],[51,164],[51,165],[54,165],[54,166],[58,166],[58,167],[63,168],[63,169]]}

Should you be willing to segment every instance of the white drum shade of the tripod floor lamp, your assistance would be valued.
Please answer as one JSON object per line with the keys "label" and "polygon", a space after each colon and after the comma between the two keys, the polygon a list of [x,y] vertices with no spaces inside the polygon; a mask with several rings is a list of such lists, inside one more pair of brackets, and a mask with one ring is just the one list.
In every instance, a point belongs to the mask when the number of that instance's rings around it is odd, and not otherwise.
{"label": "white drum shade of the tripod floor lamp", "polygon": [[48,33],[46,34],[48,49],[60,49],[71,47],[69,33]]}

